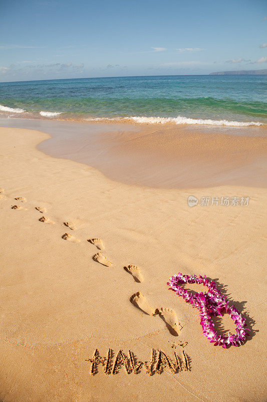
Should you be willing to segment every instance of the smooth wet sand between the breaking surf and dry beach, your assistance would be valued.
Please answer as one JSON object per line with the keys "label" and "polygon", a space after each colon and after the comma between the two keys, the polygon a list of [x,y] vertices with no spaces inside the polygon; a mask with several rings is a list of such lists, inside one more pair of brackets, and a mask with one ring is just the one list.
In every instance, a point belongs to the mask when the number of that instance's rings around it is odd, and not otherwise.
{"label": "smooth wet sand between the breaking surf and dry beach", "polygon": [[26,119],[2,120],[4,123],[48,133],[52,138],[38,145],[42,152],[93,166],[125,184],[184,189],[266,186],[264,128]]}

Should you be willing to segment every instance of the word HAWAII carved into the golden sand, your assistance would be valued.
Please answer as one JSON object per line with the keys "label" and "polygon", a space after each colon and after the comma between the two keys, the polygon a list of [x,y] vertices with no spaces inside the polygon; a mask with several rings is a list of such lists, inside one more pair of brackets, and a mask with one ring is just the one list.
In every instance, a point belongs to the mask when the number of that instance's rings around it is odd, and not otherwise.
{"label": "word HAWAII carved into the golden sand", "polygon": [[107,356],[100,356],[98,349],[95,350],[91,359],[86,359],[91,362],[90,374],[95,375],[98,372],[98,366],[103,366],[105,374],[116,374],[124,367],[126,374],[138,374],[142,368],[146,374],[153,375],[155,373],[161,374],[164,369],[176,374],[180,371],[190,371],[189,358],[182,350],[181,356],[173,352],[171,359],[162,350],[156,351],[152,349],[151,358],[149,361],[139,361],[134,353],[129,350],[127,355],[120,349],[114,353],[112,349],[108,350]]}

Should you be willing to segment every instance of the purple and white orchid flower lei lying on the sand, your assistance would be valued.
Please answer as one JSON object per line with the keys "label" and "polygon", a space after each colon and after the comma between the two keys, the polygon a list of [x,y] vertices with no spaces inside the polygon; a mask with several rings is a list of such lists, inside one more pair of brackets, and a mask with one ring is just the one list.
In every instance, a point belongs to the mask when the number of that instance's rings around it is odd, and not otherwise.
{"label": "purple and white orchid flower lei lying on the sand", "polygon": [[[207,286],[208,291],[206,293],[200,292],[192,294],[185,290],[179,283],[203,283]],[[229,306],[229,302],[226,301],[220,291],[216,287],[216,283],[209,281],[206,275],[182,275],[180,272],[178,275],[172,276],[167,283],[169,289],[174,290],[178,296],[182,296],[186,303],[190,303],[193,307],[197,307],[200,312],[200,325],[202,326],[203,334],[209,339],[209,342],[214,342],[214,346],[238,346],[244,343],[245,337],[248,335],[249,329],[244,328],[245,319],[234,306]],[[214,330],[214,324],[211,320],[212,316],[221,316],[221,312],[225,311],[229,314],[230,318],[236,325],[236,335],[228,333],[228,336],[218,336]]]}

